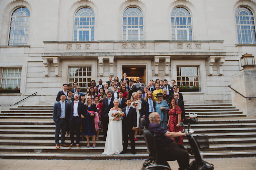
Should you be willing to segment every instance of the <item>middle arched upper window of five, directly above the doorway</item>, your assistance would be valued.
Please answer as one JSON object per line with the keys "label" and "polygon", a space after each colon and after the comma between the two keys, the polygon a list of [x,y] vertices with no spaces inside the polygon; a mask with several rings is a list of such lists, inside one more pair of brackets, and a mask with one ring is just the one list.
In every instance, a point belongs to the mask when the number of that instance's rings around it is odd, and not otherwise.
{"label": "middle arched upper window of five, directly above the doorway", "polygon": [[123,40],[144,40],[143,13],[139,8],[129,7],[123,12]]}

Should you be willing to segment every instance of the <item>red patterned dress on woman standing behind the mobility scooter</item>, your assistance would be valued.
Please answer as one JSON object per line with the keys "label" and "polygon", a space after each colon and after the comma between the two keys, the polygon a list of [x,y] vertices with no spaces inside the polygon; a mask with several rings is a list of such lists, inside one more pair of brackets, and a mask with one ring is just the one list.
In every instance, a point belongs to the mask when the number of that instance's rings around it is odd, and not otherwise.
{"label": "red patterned dress on woman standing behind the mobility scooter", "polygon": [[[182,112],[181,112],[180,106],[176,106],[174,109],[169,110],[170,120],[169,120],[169,129],[168,130],[170,132],[179,132],[179,131],[183,130],[182,126],[176,127],[176,124],[178,123],[178,114],[181,114],[181,113]],[[181,122],[182,122],[182,119],[181,119]],[[182,136],[176,137],[173,139],[176,143],[183,145],[183,137]]]}

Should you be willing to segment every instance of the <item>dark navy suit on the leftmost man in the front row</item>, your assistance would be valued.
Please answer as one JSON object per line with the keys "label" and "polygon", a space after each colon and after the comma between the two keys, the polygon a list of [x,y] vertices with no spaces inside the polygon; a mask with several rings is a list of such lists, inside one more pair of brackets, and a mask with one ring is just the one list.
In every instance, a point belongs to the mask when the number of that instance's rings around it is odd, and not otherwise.
{"label": "dark navy suit on the leftmost man in the front row", "polygon": [[[65,103],[65,111],[64,111],[64,115],[66,118],[66,112],[67,112],[67,108],[69,106],[69,104],[67,102]],[[66,119],[60,119],[61,116],[61,104],[60,102],[57,102],[54,104],[53,106],[53,121],[55,122],[55,144],[59,144],[59,132],[60,132],[60,128],[61,128],[61,144],[64,144],[65,141],[65,132],[66,132]]]}

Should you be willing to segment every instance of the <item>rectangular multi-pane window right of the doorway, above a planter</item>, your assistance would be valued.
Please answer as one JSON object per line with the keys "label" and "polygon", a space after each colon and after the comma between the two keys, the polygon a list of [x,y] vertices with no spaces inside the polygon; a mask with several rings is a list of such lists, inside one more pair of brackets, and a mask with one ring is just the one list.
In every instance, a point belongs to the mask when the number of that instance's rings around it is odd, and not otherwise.
{"label": "rectangular multi-pane window right of the doorway, above a planter", "polygon": [[199,73],[196,66],[177,66],[177,85],[199,85]]}

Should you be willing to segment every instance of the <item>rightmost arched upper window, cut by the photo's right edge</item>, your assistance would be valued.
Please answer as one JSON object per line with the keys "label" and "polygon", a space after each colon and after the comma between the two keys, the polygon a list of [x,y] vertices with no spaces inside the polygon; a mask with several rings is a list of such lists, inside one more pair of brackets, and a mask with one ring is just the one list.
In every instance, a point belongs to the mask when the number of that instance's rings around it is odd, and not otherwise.
{"label": "rightmost arched upper window, cut by the photo's right edge", "polygon": [[252,11],[247,7],[238,7],[235,14],[238,43],[256,44],[255,23]]}

